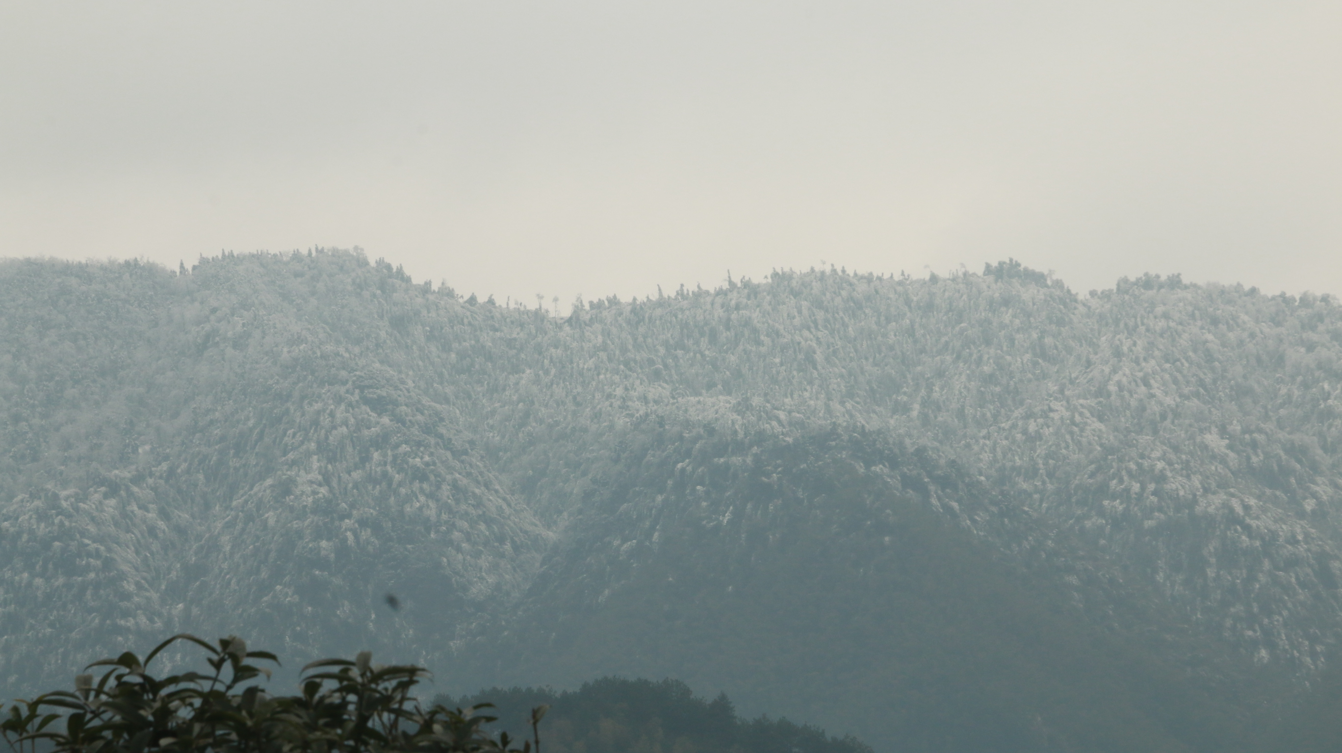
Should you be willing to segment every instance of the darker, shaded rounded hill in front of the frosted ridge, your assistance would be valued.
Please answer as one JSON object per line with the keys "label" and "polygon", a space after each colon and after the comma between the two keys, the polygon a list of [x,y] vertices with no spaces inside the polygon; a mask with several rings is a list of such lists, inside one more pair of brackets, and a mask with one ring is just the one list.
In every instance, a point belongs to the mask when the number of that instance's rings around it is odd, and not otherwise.
{"label": "darker, shaded rounded hill in front of the frosted ridge", "polygon": [[1206,647],[1087,625],[969,532],[988,491],[954,464],[870,432],[654,436],[470,652],[482,679],[674,675],[878,749],[1237,749]]}

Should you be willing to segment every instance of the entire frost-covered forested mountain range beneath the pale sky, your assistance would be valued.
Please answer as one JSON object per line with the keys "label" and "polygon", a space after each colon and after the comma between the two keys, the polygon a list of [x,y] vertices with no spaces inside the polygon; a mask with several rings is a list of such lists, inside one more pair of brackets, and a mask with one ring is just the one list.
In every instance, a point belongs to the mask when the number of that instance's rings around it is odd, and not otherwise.
{"label": "entire frost-covered forested mountain range beneath the pale sky", "polygon": [[1177,277],[554,315],[358,252],[5,260],[0,687],[235,632],[876,750],[1233,750],[1337,663],[1339,391],[1335,301]]}

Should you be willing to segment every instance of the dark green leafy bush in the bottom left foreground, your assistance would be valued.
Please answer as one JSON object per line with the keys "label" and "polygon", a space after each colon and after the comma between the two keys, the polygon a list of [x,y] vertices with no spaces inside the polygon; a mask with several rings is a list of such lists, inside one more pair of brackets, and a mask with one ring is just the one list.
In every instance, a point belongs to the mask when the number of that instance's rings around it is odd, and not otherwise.
{"label": "dark green leafy bush in the bottom left foreground", "polygon": [[[209,652],[211,672],[157,678],[149,664],[176,642]],[[348,659],[323,659],[303,667],[302,693],[270,695],[256,685],[279,664],[274,654],[248,651],[240,638],[212,646],[193,635],[174,635],[141,660],[132,652],[103,659],[102,676],[82,674],[75,690],[17,701],[5,710],[0,733],[17,753],[531,753],[507,733],[482,729],[495,721],[467,709],[424,709],[412,695],[423,667],[377,666],[364,651]],[[533,734],[545,707],[531,710]],[[535,737],[535,750],[539,738]]]}

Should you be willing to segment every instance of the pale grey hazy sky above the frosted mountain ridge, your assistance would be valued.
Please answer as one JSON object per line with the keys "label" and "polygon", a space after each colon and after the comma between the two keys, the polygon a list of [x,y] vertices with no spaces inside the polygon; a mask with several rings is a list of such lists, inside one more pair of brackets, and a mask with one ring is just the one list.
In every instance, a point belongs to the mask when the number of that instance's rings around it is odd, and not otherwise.
{"label": "pale grey hazy sky above the frosted mountain ridge", "polygon": [[1342,3],[0,0],[0,256],[1342,294]]}

